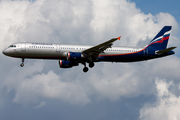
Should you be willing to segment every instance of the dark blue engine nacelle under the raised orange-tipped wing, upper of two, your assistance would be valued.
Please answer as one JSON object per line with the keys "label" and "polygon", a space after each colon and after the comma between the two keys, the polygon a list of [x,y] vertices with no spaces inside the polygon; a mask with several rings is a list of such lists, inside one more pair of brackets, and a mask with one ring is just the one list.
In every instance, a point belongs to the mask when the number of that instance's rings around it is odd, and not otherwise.
{"label": "dark blue engine nacelle under the raised orange-tipped wing, upper of two", "polygon": [[81,60],[84,58],[82,53],[77,53],[77,52],[68,52],[67,53],[67,60]]}

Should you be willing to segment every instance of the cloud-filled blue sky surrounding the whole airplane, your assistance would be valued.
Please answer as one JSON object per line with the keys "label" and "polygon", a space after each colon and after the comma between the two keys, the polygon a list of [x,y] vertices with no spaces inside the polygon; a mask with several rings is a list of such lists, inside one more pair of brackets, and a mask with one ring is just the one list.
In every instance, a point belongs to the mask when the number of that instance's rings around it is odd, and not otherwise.
{"label": "cloud-filled blue sky surrounding the whole airplane", "polygon": [[[0,50],[22,41],[97,45],[119,35],[116,46],[145,46],[166,24],[177,32],[170,46],[180,45],[178,0],[129,1],[0,0]],[[175,51],[150,61],[97,63],[86,74],[83,65],[60,69],[58,60],[26,59],[21,68],[20,59],[1,53],[0,118],[180,119]]]}

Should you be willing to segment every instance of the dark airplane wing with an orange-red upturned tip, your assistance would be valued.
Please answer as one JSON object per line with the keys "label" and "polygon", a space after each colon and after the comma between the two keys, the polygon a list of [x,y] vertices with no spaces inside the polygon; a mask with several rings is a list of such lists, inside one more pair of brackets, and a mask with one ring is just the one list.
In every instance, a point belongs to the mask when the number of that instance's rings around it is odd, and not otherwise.
{"label": "dark airplane wing with an orange-red upturned tip", "polygon": [[112,43],[118,39],[120,40],[120,38],[121,36],[118,38],[112,38],[111,40],[84,50],[82,54],[87,58],[97,58],[100,53],[103,53],[107,48],[111,48],[113,45]]}

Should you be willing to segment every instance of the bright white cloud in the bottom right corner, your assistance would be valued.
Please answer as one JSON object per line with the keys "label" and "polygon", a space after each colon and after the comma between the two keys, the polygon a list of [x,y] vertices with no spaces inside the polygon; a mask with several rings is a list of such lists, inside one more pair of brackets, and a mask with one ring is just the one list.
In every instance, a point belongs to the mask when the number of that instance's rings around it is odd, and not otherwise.
{"label": "bright white cloud in the bottom right corner", "polygon": [[[156,79],[157,101],[146,104],[140,111],[141,120],[179,120],[180,96],[174,95],[168,88],[173,82]],[[174,87],[175,85],[173,85]],[[180,90],[180,89],[179,89]]]}

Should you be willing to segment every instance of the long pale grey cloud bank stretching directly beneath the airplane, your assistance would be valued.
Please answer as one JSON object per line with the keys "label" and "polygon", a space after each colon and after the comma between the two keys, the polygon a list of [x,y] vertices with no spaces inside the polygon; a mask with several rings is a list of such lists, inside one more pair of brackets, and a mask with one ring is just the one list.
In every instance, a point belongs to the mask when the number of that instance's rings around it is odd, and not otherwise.
{"label": "long pale grey cloud bank stretching directly beneath the airplane", "polygon": [[[16,103],[34,103],[40,98],[81,105],[94,100],[117,101],[121,97],[155,94],[155,77],[169,78],[179,83],[178,61],[179,58],[171,56],[141,63],[96,64],[87,74],[82,72],[81,67],[61,71],[54,68],[59,71],[54,72],[39,61],[27,64],[25,68],[10,70],[8,74],[11,76],[5,77],[1,86],[7,87],[8,92],[16,91],[13,98]],[[163,62],[172,64],[162,66]],[[43,69],[48,69],[48,72],[43,72]],[[166,86],[158,87],[166,89]]]}

